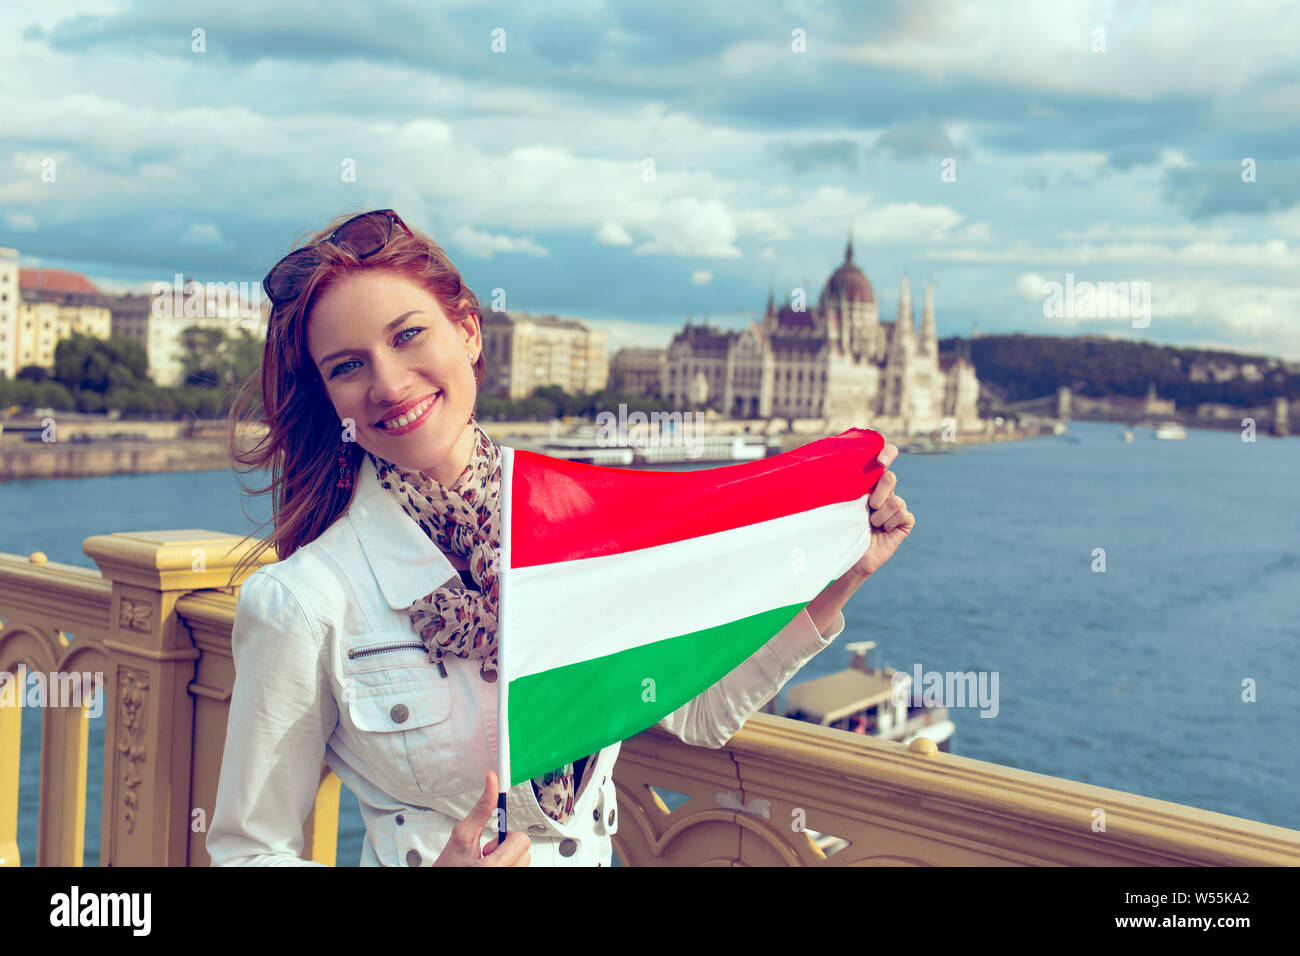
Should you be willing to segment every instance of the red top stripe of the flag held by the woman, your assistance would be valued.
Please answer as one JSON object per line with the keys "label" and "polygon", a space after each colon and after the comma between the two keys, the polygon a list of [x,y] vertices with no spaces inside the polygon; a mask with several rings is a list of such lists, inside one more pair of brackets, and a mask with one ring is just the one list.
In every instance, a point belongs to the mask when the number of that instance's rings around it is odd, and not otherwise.
{"label": "red top stripe of the flag held by the woman", "polygon": [[885,468],[867,428],[772,458],[701,471],[637,471],[515,450],[511,567],[636,551],[868,494]]}

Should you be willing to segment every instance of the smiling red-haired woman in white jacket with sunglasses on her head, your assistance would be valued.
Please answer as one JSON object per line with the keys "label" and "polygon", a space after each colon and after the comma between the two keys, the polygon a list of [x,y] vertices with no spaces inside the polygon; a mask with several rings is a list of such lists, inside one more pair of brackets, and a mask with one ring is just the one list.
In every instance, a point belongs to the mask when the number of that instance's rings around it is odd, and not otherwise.
{"label": "smiling red-haired woman in white jacket with sunglasses on her head", "polygon": [[[213,865],[309,864],[322,761],[360,803],[363,865],[608,865],[618,744],[512,787],[511,831],[482,845],[498,792],[500,464],[473,415],[477,299],[391,209],[326,228],[264,285],[269,431],[240,453],[237,401],[231,451],[273,470],[257,490],[276,490],[274,532],[246,563],[272,544],[281,561],[239,593]],[[660,726],[722,747],[838,636],[845,601],[915,523],[894,485],[887,471],[867,502],[862,559]]]}

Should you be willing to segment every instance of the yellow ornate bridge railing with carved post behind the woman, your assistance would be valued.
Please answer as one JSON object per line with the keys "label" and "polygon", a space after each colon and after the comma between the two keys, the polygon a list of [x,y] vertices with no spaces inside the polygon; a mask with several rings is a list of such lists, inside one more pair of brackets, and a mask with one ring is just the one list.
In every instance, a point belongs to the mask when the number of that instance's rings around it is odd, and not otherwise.
{"label": "yellow ornate bridge railing with carved post behind the woman", "polygon": [[[99,574],[0,554],[0,679],[14,692],[22,667],[53,675],[47,695],[62,704],[42,709],[35,819],[18,818],[25,708],[0,705],[0,865],[18,865],[20,827],[35,827],[38,865],[82,864],[92,705],[105,717],[100,865],[208,865],[234,683],[237,589],[224,585],[250,546],[239,541],[192,529],[94,536],[83,549]],[[103,675],[101,698],[75,685],[81,674]],[[646,731],[615,771],[615,852],[633,866],[1300,865],[1296,830],[927,743],[767,714],[718,750]],[[685,801],[670,812],[666,793]],[[338,795],[322,767],[304,857],[335,862]]]}

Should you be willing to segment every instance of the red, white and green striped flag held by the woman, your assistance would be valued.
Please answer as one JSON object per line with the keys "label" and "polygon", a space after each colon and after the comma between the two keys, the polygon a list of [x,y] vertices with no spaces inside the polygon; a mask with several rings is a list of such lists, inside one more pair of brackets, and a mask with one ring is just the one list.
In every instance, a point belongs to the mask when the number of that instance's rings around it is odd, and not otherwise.
{"label": "red, white and green striped flag held by the woman", "polygon": [[500,779],[655,724],[867,550],[879,432],[701,471],[502,449]]}

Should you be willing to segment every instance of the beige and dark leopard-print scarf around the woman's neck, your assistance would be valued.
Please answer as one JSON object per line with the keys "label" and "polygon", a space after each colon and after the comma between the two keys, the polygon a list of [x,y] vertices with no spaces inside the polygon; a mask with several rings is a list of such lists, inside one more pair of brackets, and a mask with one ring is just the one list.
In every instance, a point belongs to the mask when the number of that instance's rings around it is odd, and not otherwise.
{"label": "beige and dark leopard-print scarf around the woman's neck", "polygon": [[[411,627],[429,649],[429,659],[446,676],[447,654],[478,659],[478,676],[493,683],[497,667],[497,617],[500,606],[500,449],[474,421],[474,449],[469,464],[443,486],[426,472],[406,471],[370,455],[380,484],[402,505],[425,535],[443,551],[469,561],[478,591],[438,587],[408,609]],[[458,583],[459,584],[459,583]],[[573,813],[576,780],[566,763],[532,780],[538,806],[551,819],[564,822]]]}

